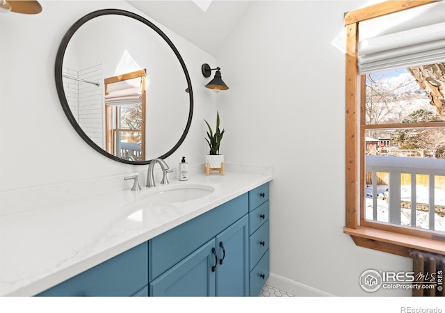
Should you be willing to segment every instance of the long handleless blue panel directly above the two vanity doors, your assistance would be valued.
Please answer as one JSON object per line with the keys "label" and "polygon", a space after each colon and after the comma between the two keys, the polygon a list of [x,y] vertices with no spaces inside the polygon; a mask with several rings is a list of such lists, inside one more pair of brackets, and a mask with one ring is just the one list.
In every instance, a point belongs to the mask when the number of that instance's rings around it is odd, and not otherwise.
{"label": "long handleless blue panel directly above the two vanity doors", "polygon": [[247,193],[151,239],[149,281],[152,282],[246,214]]}

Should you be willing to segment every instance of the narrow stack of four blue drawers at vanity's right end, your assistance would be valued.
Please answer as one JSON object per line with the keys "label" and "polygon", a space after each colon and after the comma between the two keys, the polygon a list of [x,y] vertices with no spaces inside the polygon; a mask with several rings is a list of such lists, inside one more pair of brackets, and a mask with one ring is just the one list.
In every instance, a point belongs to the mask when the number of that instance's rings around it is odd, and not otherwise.
{"label": "narrow stack of four blue drawers at vanity's right end", "polygon": [[249,290],[258,296],[269,277],[269,184],[249,191]]}

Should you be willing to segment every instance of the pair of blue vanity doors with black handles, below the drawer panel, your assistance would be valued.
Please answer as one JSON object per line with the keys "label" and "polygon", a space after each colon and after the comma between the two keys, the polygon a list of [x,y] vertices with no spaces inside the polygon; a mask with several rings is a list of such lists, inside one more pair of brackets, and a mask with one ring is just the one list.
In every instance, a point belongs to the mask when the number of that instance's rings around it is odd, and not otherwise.
{"label": "pair of blue vanity doors with black handles, below the drawer panel", "polygon": [[150,296],[248,296],[248,216],[150,283]]}

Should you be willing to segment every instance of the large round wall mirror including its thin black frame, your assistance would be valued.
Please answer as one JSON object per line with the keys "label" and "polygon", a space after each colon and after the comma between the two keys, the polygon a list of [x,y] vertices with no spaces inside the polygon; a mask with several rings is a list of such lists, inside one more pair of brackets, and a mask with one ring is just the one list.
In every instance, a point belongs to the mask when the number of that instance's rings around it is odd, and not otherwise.
{"label": "large round wall mirror including its thin black frame", "polygon": [[140,15],[106,9],[79,19],[60,43],[55,76],[68,120],[106,157],[147,164],[186,138],[193,114],[186,65]]}

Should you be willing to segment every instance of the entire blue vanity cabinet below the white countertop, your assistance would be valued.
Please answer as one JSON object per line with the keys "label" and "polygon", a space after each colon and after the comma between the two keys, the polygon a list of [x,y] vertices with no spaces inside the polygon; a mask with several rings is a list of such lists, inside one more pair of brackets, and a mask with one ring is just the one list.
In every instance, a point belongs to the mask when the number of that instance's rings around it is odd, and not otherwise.
{"label": "entire blue vanity cabinet below the white countertop", "polygon": [[258,296],[268,216],[264,184],[38,296]]}

